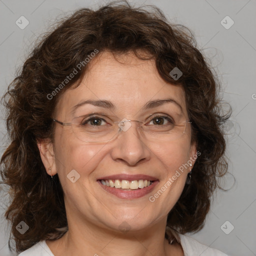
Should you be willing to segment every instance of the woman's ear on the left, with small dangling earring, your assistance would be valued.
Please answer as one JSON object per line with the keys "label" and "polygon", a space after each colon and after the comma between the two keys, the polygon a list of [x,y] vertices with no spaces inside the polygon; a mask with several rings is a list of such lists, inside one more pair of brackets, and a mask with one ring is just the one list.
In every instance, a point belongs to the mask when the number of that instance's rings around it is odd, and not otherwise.
{"label": "woman's ear on the left, with small dangling earring", "polygon": [[[46,172],[52,176],[57,173],[53,143],[49,139],[37,141],[37,147],[40,152],[41,160]],[[50,171],[49,171],[50,168]]]}

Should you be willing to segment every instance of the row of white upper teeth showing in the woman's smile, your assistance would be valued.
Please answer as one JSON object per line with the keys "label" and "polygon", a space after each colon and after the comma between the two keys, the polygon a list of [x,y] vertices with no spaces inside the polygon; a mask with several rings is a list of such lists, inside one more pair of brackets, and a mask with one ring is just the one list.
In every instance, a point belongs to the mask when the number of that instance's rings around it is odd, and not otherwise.
{"label": "row of white upper teeth showing in the woman's smile", "polygon": [[137,189],[149,186],[152,181],[146,179],[139,179],[139,180],[125,180],[125,179],[101,179],[101,183],[106,186],[111,186],[115,188],[126,188],[126,189]]}

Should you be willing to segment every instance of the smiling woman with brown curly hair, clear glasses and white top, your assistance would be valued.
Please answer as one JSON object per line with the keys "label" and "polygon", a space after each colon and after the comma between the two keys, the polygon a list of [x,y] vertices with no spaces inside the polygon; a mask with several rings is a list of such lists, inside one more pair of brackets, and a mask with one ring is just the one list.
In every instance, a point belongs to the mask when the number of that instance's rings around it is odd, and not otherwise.
{"label": "smiling woman with brown curly hair, clear glasses and white top", "polygon": [[3,98],[19,255],[226,255],[184,235],[227,169],[217,93],[192,34],[156,7],[62,20]]}

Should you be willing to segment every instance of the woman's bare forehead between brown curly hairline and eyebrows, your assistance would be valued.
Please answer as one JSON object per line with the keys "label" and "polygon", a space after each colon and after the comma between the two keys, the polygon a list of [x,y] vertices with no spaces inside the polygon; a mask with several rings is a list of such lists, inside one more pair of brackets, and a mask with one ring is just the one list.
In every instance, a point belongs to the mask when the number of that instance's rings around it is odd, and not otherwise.
{"label": "woman's bare forehead between brown curly hairline and eyebrows", "polygon": [[122,113],[136,113],[155,99],[172,98],[186,115],[183,88],[163,80],[154,60],[141,60],[134,54],[102,52],[90,60],[86,74],[76,88],[68,88],[59,98],[56,112],[66,117],[73,106],[84,100],[108,100]]}

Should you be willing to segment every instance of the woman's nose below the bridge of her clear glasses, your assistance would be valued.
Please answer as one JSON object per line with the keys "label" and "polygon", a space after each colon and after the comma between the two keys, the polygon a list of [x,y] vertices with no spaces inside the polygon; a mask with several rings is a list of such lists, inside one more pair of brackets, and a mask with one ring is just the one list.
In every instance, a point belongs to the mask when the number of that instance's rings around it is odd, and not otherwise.
{"label": "woman's nose below the bridge of her clear glasses", "polygon": [[116,161],[124,161],[127,165],[135,165],[139,161],[150,158],[147,143],[139,133],[139,123],[124,121],[119,123],[121,131],[113,143],[111,157]]}

